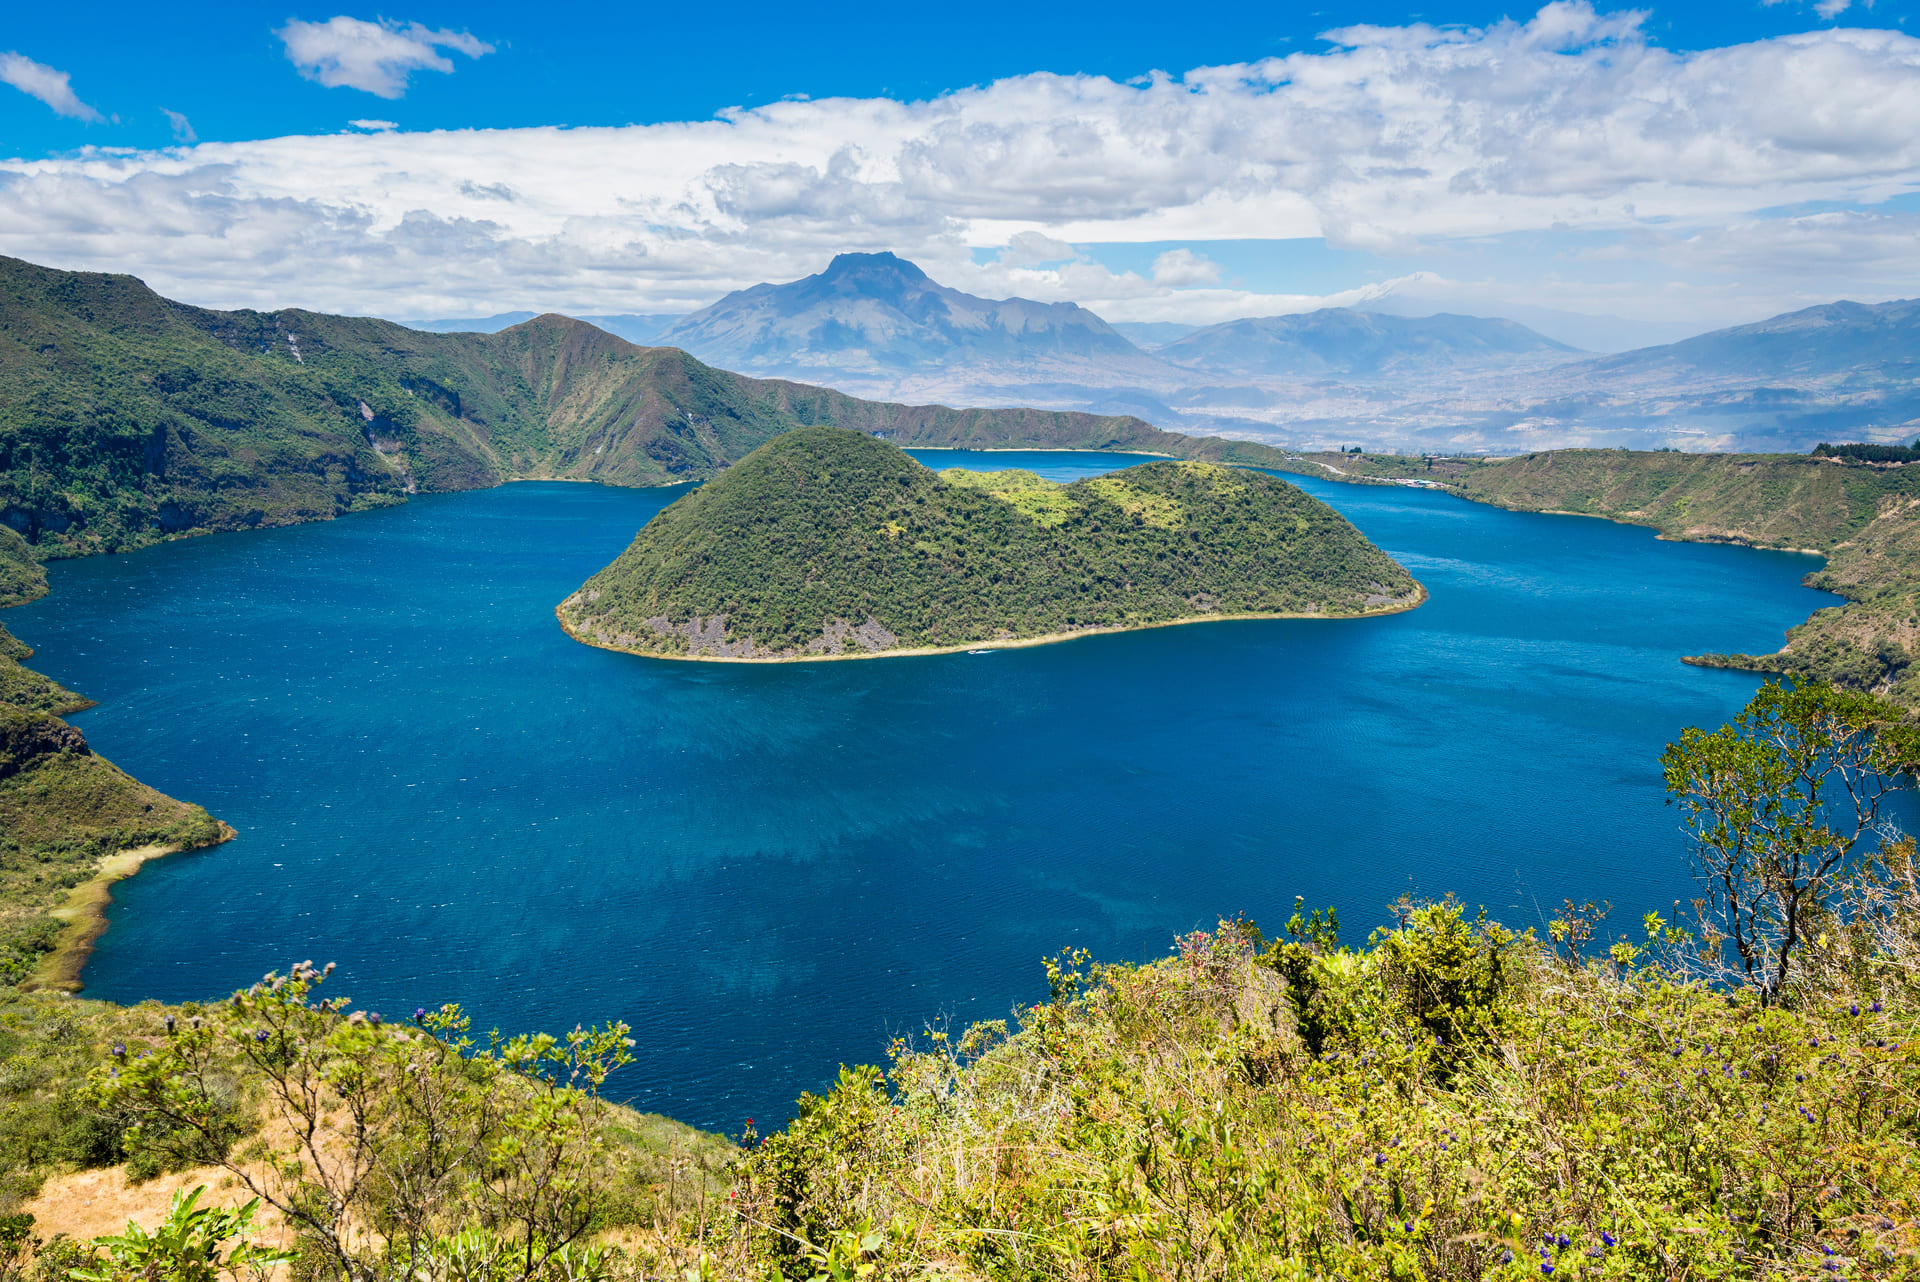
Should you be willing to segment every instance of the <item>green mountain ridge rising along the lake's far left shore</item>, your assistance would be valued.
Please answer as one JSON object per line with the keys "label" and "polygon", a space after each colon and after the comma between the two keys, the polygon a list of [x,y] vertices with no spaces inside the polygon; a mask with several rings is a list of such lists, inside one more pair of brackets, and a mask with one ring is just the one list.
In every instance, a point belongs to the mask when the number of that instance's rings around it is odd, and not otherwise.
{"label": "green mountain ridge rising along the lake's far left shore", "polygon": [[1139,418],[860,401],[566,317],[422,334],[298,309],[207,311],[132,276],[0,257],[0,522],[42,557],[513,478],[705,480],[808,424],[920,445],[1275,455]]}

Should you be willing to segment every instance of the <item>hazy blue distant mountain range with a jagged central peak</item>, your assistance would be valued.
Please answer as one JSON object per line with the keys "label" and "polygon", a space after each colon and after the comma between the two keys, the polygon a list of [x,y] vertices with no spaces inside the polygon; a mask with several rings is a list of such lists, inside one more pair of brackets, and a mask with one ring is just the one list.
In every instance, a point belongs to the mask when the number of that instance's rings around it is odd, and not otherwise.
{"label": "hazy blue distant mountain range with a jagged central peak", "polygon": [[[1567,332],[1571,313],[1540,315]],[[484,330],[520,317],[426,324]],[[1309,447],[1803,451],[1920,432],[1920,301],[1826,303],[1590,355],[1511,319],[1375,303],[1212,326],[1108,324],[1073,303],[975,297],[891,253],[845,253],[689,317],[595,322],[860,397],[1131,415]]]}

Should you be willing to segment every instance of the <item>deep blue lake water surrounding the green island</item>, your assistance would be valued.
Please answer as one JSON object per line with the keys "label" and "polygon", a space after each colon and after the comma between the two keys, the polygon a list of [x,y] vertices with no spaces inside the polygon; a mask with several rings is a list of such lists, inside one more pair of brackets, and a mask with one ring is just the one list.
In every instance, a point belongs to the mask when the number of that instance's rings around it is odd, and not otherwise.
{"label": "deep blue lake water surrounding the green island", "polygon": [[[920,451],[1054,478],[1112,455]],[[52,566],[6,616],[75,722],[240,829],[115,892],[88,996],[338,962],[386,1013],[626,1019],[614,1094],[735,1130],[929,1019],[1044,996],[1294,894],[1350,935],[1405,890],[1509,925],[1690,894],[1657,758],[1834,597],[1788,553],[1304,482],[1432,591],[983,656],[684,664],[553,605],[680,489],[516,484]]]}

